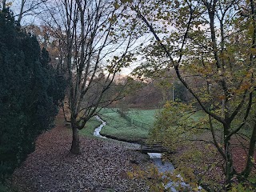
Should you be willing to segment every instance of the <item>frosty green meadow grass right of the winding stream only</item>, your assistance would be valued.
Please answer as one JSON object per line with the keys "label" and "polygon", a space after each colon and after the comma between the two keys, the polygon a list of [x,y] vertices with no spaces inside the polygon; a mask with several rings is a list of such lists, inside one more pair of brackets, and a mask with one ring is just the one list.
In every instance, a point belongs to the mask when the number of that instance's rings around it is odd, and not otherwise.
{"label": "frosty green meadow grass right of the winding stream only", "polygon": [[147,138],[150,128],[153,126],[155,110],[131,110],[128,115],[139,122],[150,124],[145,128],[131,125],[122,118],[120,114],[113,111],[108,113],[102,113],[101,117],[106,121],[106,126],[102,128],[101,133],[118,138],[125,141],[136,142],[140,138]]}

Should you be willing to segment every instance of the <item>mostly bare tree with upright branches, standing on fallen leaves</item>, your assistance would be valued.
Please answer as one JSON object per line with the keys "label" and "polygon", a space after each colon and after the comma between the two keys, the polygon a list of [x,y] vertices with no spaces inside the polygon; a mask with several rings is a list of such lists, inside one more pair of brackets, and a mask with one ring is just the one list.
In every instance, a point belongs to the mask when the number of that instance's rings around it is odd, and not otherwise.
{"label": "mostly bare tree with upright branches, standing on fallen leaves", "polygon": [[70,151],[79,154],[78,130],[98,106],[113,102],[115,98],[104,100],[103,95],[121,68],[132,62],[134,31],[123,28],[118,20],[122,10],[109,0],[55,1],[45,6],[50,17],[43,19],[56,29],[56,38],[63,46],[69,82],[66,101],[70,118],[66,120],[73,130]]}

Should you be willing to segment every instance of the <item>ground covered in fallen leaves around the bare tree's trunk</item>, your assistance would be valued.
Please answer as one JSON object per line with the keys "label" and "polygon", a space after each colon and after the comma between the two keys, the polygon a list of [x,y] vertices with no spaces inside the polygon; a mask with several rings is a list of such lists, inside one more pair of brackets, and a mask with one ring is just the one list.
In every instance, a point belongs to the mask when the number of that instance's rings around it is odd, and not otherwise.
{"label": "ground covered in fallen leaves around the bare tree's trunk", "polygon": [[20,191],[147,191],[145,182],[127,178],[134,162],[147,157],[125,144],[81,137],[82,154],[70,154],[71,131],[58,116],[57,126],[38,137],[36,149],[15,170]]}

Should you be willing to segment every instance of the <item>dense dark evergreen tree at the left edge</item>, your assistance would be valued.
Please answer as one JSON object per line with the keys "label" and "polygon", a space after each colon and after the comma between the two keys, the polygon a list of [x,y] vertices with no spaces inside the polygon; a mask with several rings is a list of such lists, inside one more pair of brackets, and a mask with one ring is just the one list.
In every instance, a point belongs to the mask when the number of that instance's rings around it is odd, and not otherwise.
{"label": "dense dark evergreen tree at the left edge", "polygon": [[[10,10],[0,10],[0,177],[13,172],[50,129],[64,98],[63,78],[45,49],[26,34]],[[61,84],[59,84],[61,83]],[[61,85],[61,86],[59,86]]]}

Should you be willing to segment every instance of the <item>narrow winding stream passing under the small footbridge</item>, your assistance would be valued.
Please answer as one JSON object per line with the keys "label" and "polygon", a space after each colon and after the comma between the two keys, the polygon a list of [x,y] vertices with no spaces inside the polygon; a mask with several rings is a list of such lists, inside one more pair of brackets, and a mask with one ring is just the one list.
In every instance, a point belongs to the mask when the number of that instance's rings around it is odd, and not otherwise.
{"label": "narrow winding stream passing under the small footbridge", "polygon": [[[95,117],[98,119],[98,121],[102,122],[102,124],[94,130],[94,136],[98,138],[106,138],[100,134],[102,127],[106,126],[106,122],[104,122],[102,118],[100,118],[98,115],[96,115]],[[140,146],[138,143],[134,143],[134,144],[137,146]],[[162,162],[162,154],[160,153],[147,153],[147,154],[149,155],[154,165],[158,168],[158,171],[160,173],[174,171],[174,166],[172,163]],[[177,177],[180,177],[180,176],[177,176]],[[184,187],[188,186],[185,182],[182,182],[181,184]],[[175,186],[174,182],[168,182],[165,187],[166,189],[170,189],[171,192],[178,192],[178,190],[175,190],[174,186]]]}

